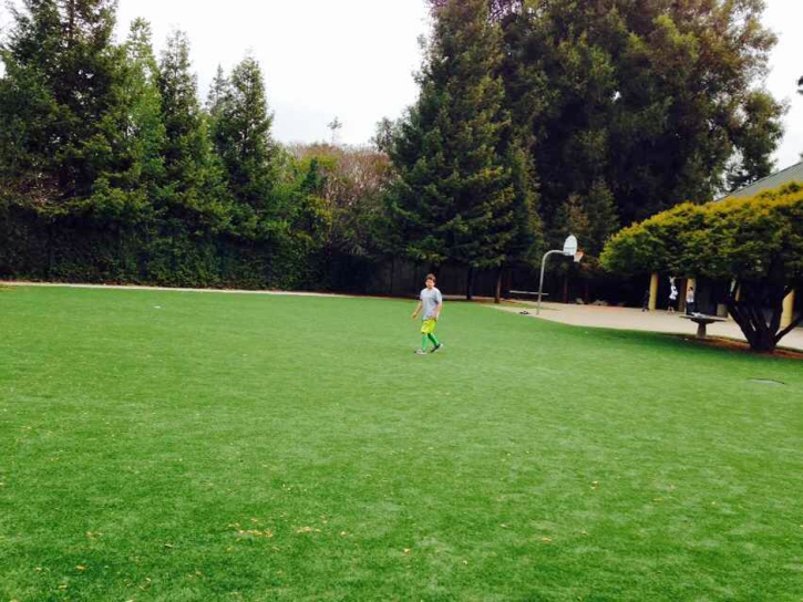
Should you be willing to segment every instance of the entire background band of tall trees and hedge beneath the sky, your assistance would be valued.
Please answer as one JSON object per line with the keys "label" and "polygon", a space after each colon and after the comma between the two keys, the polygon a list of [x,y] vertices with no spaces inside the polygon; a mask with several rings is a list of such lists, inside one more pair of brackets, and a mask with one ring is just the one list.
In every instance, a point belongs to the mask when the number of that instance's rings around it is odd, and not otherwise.
{"label": "entire background band of tall trees and hedge beneath the sky", "polygon": [[328,287],[341,259],[504,269],[568,233],[597,255],[620,222],[772,168],[760,0],[431,4],[420,98],[379,124],[379,152],[294,156],[254,59],[218,70],[203,111],[185,34],[157,62],[143,20],[115,43],[114,0],[24,0],[0,45],[0,271]]}

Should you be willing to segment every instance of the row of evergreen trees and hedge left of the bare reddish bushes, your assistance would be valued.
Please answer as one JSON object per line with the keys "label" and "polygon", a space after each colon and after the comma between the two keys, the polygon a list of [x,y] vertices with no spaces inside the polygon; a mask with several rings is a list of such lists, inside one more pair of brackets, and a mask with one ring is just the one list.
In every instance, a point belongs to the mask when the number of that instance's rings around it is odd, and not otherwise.
{"label": "row of evergreen trees and hedge left of the bare reddish bushes", "polygon": [[181,32],[157,64],[143,20],[114,44],[110,1],[29,0],[14,21],[0,49],[0,273],[329,286],[325,178],[270,141],[255,61],[220,73],[207,115]]}

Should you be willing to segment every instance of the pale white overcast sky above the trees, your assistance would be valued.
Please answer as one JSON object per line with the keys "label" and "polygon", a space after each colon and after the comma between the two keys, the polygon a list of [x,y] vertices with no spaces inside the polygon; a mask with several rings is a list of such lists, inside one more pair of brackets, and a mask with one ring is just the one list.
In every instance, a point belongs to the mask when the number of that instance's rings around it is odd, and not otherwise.
{"label": "pale white overcast sky above the trees", "polygon": [[[775,154],[787,167],[803,153],[803,2],[768,0],[764,23],[779,37],[766,87],[790,103],[785,136]],[[342,122],[340,142],[363,144],[383,116],[415,101],[419,35],[428,31],[424,0],[120,0],[119,38],[144,17],[159,51],[172,29],[187,32],[200,94],[220,63],[227,71],[250,52],[265,72],[268,102],[281,142],[328,139]],[[8,23],[8,14],[2,22]]]}

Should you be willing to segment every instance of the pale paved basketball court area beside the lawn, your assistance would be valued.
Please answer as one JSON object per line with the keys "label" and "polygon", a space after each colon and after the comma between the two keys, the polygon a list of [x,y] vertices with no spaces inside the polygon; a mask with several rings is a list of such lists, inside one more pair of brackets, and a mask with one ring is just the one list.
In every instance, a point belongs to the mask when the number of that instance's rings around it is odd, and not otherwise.
{"label": "pale paved basketball court area beside the lawn", "polygon": [[[496,308],[518,313],[526,310],[535,318],[535,308],[528,304],[495,305]],[[563,303],[543,303],[541,315],[544,320],[562,322],[574,326],[595,326],[616,330],[640,330],[647,332],[667,332],[694,336],[697,324],[691,320],[678,318],[663,310],[641,311],[632,308],[604,308],[599,305],[570,305]],[[709,336],[727,336],[744,341],[744,335],[733,320],[716,322],[708,325]],[[781,347],[803,351],[803,329],[795,329],[781,339]]]}

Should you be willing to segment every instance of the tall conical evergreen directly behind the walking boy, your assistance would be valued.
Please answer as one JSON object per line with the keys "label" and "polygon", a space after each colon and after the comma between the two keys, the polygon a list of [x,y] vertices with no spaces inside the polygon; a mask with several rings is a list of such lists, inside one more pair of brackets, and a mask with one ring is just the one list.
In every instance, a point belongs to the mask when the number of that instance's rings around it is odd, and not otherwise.
{"label": "tall conical evergreen directly behind the walking boy", "polygon": [[514,237],[514,187],[505,164],[509,120],[498,76],[498,29],[485,0],[435,9],[418,103],[399,124],[391,211],[404,253],[440,266],[496,268]]}

